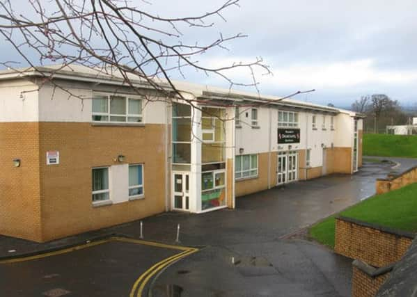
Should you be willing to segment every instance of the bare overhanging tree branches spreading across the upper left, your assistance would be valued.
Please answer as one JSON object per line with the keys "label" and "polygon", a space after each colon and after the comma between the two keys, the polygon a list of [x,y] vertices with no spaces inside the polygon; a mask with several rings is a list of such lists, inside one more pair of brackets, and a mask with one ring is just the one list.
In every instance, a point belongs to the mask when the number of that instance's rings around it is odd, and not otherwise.
{"label": "bare overhanging tree branches spreading across the upper left", "polygon": [[[125,85],[143,96],[132,77],[166,93],[167,98],[184,99],[171,79],[173,74],[185,77],[184,72],[195,70],[225,79],[230,88],[252,86],[258,90],[256,68],[270,73],[262,58],[219,67],[200,63],[201,55],[227,50],[228,42],[246,37],[242,33],[219,33],[206,44],[186,41],[186,27],[205,35],[216,18],[226,21],[223,12],[239,6],[239,0],[225,0],[208,13],[188,17],[155,15],[146,10],[150,3],[138,2],[134,6],[128,0],[0,0],[0,35],[30,67],[49,63],[62,65],[56,71],[74,64],[93,67],[105,74],[118,74]],[[13,61],[0,63],[15,68]],[[231,70],[245,70],[249,81],[234,81],[228,75]],[[50,74],[44,81],[55,83],[52,77]]]}

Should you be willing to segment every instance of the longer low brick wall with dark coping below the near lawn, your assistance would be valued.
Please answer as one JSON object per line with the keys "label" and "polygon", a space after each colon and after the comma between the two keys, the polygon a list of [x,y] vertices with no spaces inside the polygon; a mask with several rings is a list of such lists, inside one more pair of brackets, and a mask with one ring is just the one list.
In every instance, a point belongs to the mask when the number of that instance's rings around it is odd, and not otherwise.
{"label": "longer low brick wall with dark coping below the near lawn", "polygon": [[398,262],[413,239],[411,232],[399,232],[353,218],[336,218],[335,252],[372,266]]}

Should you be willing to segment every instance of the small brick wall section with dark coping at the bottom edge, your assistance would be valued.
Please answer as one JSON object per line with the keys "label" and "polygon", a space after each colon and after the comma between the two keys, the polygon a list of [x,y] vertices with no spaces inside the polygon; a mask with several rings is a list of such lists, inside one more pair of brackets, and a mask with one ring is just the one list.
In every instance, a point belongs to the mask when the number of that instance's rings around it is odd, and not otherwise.
{"label": "small brick wall section with dark coping at the bottom edge", "polygon": [[352,297],[374,297],[393,269],[393,265],[375,268],[361,260],[355,260],[352,266]]}

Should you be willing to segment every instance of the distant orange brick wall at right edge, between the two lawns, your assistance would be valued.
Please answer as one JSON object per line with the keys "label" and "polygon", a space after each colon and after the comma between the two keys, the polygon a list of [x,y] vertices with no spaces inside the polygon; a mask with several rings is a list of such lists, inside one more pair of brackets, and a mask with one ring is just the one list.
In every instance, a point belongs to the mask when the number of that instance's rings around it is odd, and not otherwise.
{"label": "distant orange brick wall at right edge, between the two lawns", "polygon": [[417,166],[399,174],[388,175],[384,179],[377,179],[376,191],[377,194],[383,194],[415,182],[417,182]]}

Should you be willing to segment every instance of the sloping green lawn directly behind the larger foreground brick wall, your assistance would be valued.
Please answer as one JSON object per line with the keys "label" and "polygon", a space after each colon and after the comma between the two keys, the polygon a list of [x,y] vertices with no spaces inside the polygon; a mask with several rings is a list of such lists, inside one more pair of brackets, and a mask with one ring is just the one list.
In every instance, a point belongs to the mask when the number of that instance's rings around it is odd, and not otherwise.
{"label": "sloping green lawn directly behind the larger foreground brick wall", "polygon": [[[403,231],[417,232],[417,183],[396,191],[375,195],[339,213]],[[334,248],[335,216],[313,225],[308,236]]]}

